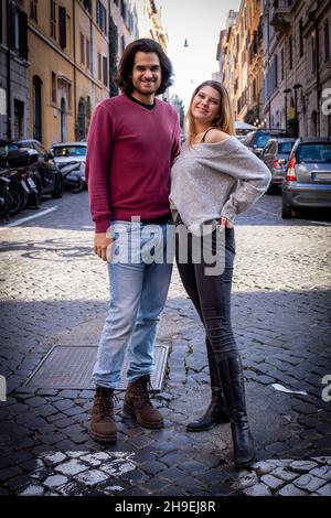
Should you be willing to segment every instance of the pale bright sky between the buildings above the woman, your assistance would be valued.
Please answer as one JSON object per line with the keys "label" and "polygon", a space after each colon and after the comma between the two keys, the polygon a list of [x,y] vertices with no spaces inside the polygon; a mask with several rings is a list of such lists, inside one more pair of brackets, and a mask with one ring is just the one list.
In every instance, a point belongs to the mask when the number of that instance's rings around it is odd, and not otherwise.
{"label": "pale bright sky between the buildings above the woman", "polygon": [[[188,107],[194,88],[218,71],[216,50],[227,13],[241,0],[159,0],[168,32],[168,55],[174,69],[170,95],[178,94]],[[184,41],[188,40],[188,47]]]}

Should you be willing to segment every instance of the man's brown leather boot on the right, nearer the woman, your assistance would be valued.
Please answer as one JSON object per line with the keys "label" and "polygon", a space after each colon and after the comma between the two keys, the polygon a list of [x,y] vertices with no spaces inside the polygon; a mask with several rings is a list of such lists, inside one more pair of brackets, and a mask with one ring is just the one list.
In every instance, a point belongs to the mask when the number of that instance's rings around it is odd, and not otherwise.
{"label": "man's brown leather boot on the right, nearer the woman", "polygon": [[163,418],[159,410],[152,407],[148,387],[150,387],[148,374],[128,385],[121,414],[125,419],[134,416],[141,427],[156,430],[163,428]]}

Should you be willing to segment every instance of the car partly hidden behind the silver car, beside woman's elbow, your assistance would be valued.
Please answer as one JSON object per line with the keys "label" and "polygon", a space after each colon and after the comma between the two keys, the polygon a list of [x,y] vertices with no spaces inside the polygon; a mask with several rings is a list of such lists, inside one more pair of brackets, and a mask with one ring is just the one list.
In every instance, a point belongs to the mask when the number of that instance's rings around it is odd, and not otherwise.
{"label": "car partly hidden behind the silver car, beside woman's elbow", "polygon": [[292,149],[295,138],[275,138],[268,140],[260,154],[260,160],[269,168],[271,182],[267,194],[280,193],[289,155]]}

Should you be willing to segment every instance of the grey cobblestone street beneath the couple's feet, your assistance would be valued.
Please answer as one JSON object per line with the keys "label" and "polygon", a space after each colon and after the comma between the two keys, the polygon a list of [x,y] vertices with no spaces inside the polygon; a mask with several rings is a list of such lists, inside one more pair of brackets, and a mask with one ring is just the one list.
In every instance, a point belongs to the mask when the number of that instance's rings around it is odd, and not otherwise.
{"label": "grey cobblestone street beneath the couple's feet", "polygon": [[264,196],[236,222],[233,326],[257,446],[250,472],[233,467],[228,424],[185,431],[207,404],[209,371],[175,269],[158,337],[170,346],[154,398],[163,430],[122,421],[120,393],[118,442],[100,446],[87,433],[92,390],[23,387],[52,346],[97,346],[107,268],[93,253],[86,191],[44,201],[40,213],[56,209],[35,219],[1,224],[0,495],[331,496],[331,402],[322,399],[331,375],[331,222],[314,213],[282,220],[280,206],[281,196]]}

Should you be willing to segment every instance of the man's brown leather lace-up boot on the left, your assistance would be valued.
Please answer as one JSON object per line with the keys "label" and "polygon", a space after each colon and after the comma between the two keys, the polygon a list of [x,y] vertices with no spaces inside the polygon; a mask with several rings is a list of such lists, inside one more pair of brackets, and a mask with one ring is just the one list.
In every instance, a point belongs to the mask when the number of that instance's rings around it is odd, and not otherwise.
{"label": "man's brown leather lace-up boot on the left", "polygon": [[90,412],[89,435],[103,443],[115,443],[117,428],[114,418],[114,389],[97,387]]}

